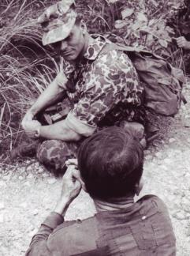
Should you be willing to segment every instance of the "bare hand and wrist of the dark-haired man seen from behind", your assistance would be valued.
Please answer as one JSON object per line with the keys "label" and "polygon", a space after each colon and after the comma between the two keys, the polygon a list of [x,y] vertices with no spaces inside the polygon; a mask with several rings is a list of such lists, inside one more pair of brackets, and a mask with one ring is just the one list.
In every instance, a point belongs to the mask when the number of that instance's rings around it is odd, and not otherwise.
{"label": "bare hand and wrist of the dark-haired man seen from behind", "polygon": [[75,164],[69,164],[62,179],[61,197],[54,209],[54,212],[65,215],[70,203],[80,194],[81,190],[80,173]]}

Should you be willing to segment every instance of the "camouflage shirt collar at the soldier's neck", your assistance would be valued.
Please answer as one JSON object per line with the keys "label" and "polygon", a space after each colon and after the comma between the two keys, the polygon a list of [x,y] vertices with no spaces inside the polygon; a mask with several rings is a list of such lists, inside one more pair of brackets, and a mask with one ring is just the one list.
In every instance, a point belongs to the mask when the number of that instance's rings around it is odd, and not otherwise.
{"label": "camouflage shirt collar at the soldier's neck", "polygon": [[95,58],[98,57],[99,52],[102,51],[102,47],[108,42],[105,37],[100,35],[93,35],[92,37],[94,40],[84,53],[84,58],[88,58],[89,60],[95,60]]}

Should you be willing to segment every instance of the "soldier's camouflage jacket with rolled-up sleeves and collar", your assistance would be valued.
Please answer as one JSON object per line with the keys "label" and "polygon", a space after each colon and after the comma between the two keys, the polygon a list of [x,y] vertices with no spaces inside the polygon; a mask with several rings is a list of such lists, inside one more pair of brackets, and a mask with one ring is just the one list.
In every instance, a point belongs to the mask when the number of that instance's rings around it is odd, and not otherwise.
{"label": "soldier's camouflage jacket with rolled-up sleeves and collar", "polygon": [[103,52],[106,43],[111,42],[95,36],[80,62],[65,68],[69,80],[67,94],[73,102],[66,122],[84,136],[91,135],[97,127],[111,126],[123,119],[141,119],[143,87],[136,70],[122,51]]}

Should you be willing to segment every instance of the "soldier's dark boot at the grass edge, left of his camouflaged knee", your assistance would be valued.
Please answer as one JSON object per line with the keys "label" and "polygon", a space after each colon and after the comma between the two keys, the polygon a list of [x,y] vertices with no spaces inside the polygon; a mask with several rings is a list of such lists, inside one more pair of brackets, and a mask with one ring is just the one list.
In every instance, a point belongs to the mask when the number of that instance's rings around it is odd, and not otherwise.
{"label": "soldier's dark boot at the grass edge, left of his camouflaged knee", "polygon": [[36,150],[39,146],[39,140],[25,143],[23,145],[17,146],[17,148],[12,149],[9,152],[9,156],[11,160],[15,160],[17,158],[32,157],[35,156]]}

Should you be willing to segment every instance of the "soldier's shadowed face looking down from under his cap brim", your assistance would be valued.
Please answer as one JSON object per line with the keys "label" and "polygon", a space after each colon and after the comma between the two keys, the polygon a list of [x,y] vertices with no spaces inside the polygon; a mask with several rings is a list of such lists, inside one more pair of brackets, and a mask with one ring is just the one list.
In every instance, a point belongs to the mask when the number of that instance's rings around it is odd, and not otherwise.
{"label": "soldier's shadowed face looking down from under his cap brim", "polygon": [[75,25],[69,36],[57,43],[57,50],[67,61],[73,61],[78,58],[84,49],[84,36],[80,26]]}

